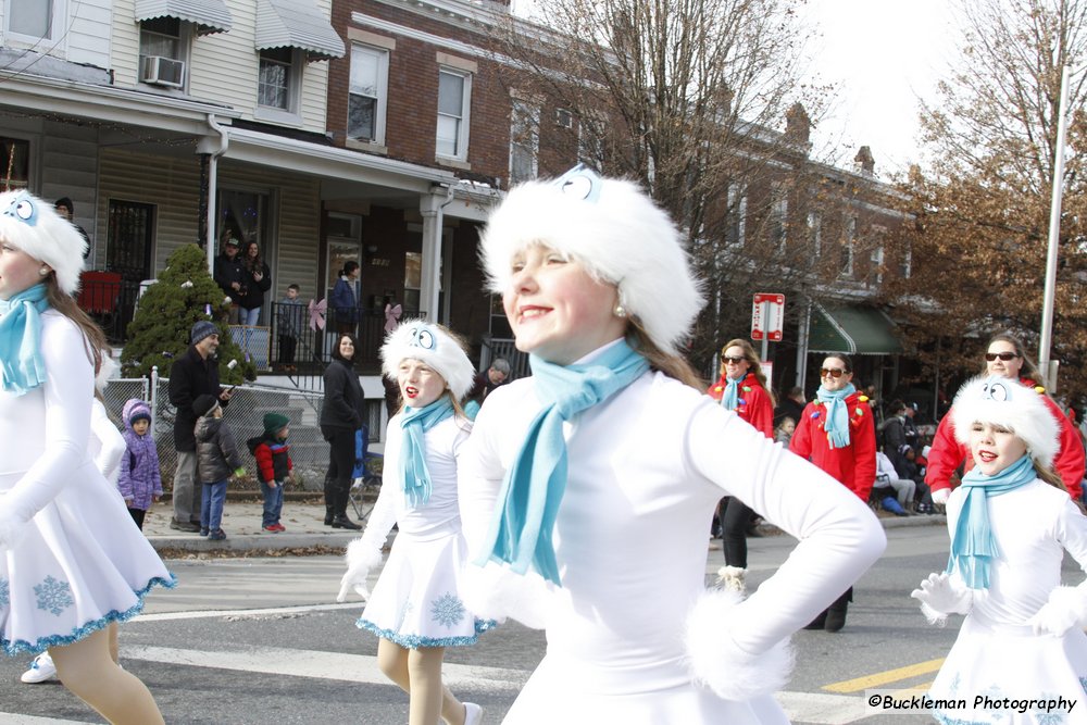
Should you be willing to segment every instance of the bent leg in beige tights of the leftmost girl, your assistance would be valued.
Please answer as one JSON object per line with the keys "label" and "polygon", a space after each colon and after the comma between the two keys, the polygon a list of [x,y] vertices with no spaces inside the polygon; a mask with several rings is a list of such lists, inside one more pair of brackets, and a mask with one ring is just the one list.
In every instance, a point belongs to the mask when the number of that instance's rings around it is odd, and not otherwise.
{"label": "bent leg in beige tights of the leftmost girl", "polygon": [[57,676],[113,725],[161,725],[159,705],[135,675],[117,666],[117,625],[63,647],[50,647]]}

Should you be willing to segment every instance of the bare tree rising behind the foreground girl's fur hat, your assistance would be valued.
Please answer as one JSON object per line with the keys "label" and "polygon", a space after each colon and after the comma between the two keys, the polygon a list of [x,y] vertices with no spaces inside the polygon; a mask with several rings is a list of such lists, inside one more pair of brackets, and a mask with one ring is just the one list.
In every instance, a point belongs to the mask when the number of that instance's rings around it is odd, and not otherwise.
{"label": "bare tree rising behind the foreground girl's fur hat", "polygon": [[[511,93],[569,112],[567,146],[639,180],[685,230],[710,283],[691,349],[699,363],[723,337],[746,334],[752,291],[792,289],[812,271],[801,179],[807,114],[817,115],[826,89],[800,82],[810,32],[796,5],[540,0],[539,24],[493,34]],[[783,133],[789,109],[796,130]],[[546,141],[550,115],[538,117]],[[545,146],[541,173],[570,165]]]}

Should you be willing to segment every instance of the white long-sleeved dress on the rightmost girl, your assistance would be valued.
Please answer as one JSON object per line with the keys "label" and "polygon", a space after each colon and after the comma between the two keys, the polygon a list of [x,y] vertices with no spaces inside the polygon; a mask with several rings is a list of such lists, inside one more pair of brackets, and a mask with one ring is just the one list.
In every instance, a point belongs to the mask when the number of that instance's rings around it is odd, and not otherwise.
{"label": "white long-sleeved dress on the rightmost girl", "polygon": [[[948,500],[952,537],[964,499],[958,488]],[[965,699],[967,708],[934,714],[946,724],[1087,723],[1087,635],[1073,628],[1063,637],[1039,637],[1024,624],[1060,585],[1065,550],[1087,571],[1087,517],[1067,493],[1039,479],[989,498],[988,510],[1000,557],[990,566],[989,588],[974,591],[970,614],[929,690],[934,699]],[[1078,703],[1058,720],[1052,713],[974,710],[977,696],[1063,696]]]}

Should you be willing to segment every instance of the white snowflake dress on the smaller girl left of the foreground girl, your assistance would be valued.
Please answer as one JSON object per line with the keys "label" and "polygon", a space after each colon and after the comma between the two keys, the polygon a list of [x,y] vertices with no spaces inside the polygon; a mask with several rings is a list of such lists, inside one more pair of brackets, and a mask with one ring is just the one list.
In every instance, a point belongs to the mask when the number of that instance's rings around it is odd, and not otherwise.
{"label": "white snowflake dress on the smaller girl left of the foreground girl", "polygon": [[457,458],[471,423],[454,415],[426,432],[430,498],[411,509],[399,483],[401,417],[389,420],[382,492],[363,539],[380,546],[393,524],[399,533],[357,624],[409,649],[474,645],[492,623],[465,609],[459,586],[467,548],[457,503]]}

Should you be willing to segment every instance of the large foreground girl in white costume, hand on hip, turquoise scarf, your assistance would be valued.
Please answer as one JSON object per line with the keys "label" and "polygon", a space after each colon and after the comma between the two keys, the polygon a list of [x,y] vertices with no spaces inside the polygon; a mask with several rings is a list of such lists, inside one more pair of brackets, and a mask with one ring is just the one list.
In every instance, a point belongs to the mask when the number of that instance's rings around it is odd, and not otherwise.
{"label": "large foreground girl in white costume, hand on hip, turquoise scarf", "polygon": [[[487,562],[467,605],[548,640],[505,722],[786,722],[788,638],[883,552],[872,512],[701,395],[677,353],[698,284],[635,185],[578,167],[520,186],[482,247],[533,376],[488,397],[461,455]],[[800,539],[746,601],[705,590],[722,496]]]}

